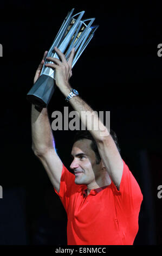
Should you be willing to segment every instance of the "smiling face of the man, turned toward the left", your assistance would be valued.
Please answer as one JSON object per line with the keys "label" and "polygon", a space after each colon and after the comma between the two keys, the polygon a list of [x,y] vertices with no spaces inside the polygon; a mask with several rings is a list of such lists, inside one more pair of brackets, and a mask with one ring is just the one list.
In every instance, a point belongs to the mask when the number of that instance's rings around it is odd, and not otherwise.
{"label": "smiling face of the man, turned toward the left", "polygon": [[91,149],[90,139],[81,139],[74,143],[72,148],[73,162],[70,168],[75,174],[76,184],[93,184],[99,176],[101,164],[96,164],[96,156]]}

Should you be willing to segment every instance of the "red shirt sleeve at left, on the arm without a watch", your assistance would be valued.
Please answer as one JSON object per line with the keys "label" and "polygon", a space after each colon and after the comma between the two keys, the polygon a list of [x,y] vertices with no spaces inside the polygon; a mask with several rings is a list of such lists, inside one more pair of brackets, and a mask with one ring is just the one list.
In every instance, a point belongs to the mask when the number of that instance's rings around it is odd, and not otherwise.
{"label": "red shirt sleeve at left, on the arm without a watch", "polygon": [[61,202],[64,206],[64,209],[67,211],[70,192],[74,185],[75,175],[70,173],[69,170],[64,166],[62,166],[61,180],[60,180],[60,191],[59,193],[54,188],[56,194],[60,197]]}

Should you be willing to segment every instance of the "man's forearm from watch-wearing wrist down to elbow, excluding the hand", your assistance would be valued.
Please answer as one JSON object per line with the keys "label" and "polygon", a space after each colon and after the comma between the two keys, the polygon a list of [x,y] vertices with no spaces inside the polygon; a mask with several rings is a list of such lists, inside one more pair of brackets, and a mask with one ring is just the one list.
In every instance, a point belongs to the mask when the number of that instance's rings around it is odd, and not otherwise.
{"label": "man's forearm from watch-wearing wrist down to elbow, excluding the hand", "polygon": [[[70,86],[62,87],[61,92],[66,97],[70,92]],[[82,124],[87,127],[94,139],[98,142],[109,135],[106,126],[98,117],[98,113],[81,99],[80,96],[74,96],[69,100],[70,105],[79,114]]]}

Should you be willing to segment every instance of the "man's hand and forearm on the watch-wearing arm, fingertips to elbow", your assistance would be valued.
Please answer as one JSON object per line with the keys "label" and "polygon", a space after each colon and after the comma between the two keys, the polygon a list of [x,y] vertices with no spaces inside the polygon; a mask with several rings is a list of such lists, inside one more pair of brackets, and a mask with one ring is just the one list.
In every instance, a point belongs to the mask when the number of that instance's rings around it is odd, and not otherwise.
{"label": "man's hand and forearm on the watch-wearing arm, fingertips to elbow", "polygon": [[[55,69],[56,72],[56,85],[61,90],[64,97],[67,97],[70,93],[70,71],[72,70],[72,62],[74,58],[74,48],[70,53],[69,60],[67,62],[64,54],[55,47],[55,51],[61,60],[53,57],[47,57],[48,60],[54,63],[47,63],[46,66]],[[74,96],[69,100],[74,110],[79,114],[82,124],[87,127],[96,141],[102,141],[103,137],[109,136],[109,131],[103,125],[98,117],[97,113],[93,112],[93,109],[81,99],[79,96]]]}

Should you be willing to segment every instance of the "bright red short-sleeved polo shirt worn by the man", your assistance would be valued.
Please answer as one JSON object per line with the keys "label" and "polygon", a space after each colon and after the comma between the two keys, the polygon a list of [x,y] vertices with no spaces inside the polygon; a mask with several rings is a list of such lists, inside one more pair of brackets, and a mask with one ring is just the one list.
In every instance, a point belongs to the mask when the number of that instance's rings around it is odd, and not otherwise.
{"label": "bright red short-sleeved polo shirt worn by the man", "polygon": [[68,245],[133,245],[143,197],[125,162],[120,191],[111,182],[87,196],[87,186],[74,180],[63,165],[60,192],[55,192],[67,212]]}

